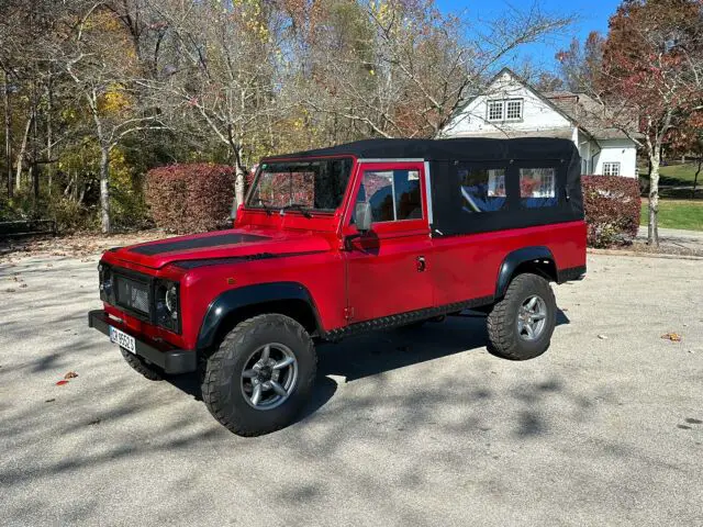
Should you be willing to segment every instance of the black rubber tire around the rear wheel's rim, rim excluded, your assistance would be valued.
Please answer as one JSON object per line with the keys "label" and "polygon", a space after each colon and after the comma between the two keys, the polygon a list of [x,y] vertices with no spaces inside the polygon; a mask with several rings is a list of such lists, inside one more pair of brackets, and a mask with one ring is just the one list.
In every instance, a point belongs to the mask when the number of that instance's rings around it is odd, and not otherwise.
{"label": "black rubber tire around the rear wheel's rim, rim excluded", "polygon": [[[547,316],[539,338],[527,341],[518,335],[517,316],[523,302],[535,294],[545,301]],[[488,315],[489,350],[510,360],[528,360],[539,357],[549,348],[556,322],[557,302],[549,282],[537,274],[518,274],[507,287],[505,296]]]}

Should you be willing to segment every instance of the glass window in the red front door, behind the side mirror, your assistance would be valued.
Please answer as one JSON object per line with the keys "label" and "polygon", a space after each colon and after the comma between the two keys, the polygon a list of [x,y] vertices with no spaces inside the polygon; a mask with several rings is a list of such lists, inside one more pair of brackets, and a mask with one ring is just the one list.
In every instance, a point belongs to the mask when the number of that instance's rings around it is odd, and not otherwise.
{"label": "glass window in the red front door, behind the side mirror", "polygon": [[370,203],[373,223],[422,218],[420,171],[367,170],[357,201]]}

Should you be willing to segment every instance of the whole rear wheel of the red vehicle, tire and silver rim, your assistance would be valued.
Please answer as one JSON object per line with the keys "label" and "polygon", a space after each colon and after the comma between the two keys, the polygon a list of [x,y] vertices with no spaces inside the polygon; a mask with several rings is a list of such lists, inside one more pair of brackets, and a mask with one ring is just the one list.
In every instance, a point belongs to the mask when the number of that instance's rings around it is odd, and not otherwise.
{"label": "whole rear wheel of the red vehicle, tire and silver rim", "polygon": [[491,350],[506,359],[534,359],[549,348],[556,323],[549,282],[537,274],[518,274],[488,316]]}

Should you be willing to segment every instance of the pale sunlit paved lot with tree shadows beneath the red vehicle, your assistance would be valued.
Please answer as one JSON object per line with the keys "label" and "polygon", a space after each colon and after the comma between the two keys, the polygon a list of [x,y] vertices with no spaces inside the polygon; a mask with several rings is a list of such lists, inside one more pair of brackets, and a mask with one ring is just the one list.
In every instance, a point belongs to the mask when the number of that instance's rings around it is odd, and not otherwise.
{"label": "pale sunlit paved lot with tree shadows beneath the red vehicle", "polygon": [[86,326],[96,265],[0,265],[3,525],[703,524],[702,261],[590,256],[528,362],[481,318],[322,347],[306,415],[253,439]]}

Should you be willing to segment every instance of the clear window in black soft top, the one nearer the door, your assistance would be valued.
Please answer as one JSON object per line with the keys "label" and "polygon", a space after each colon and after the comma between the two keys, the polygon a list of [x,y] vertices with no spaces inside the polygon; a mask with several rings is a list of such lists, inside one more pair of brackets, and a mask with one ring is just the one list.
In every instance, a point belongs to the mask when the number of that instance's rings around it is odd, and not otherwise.
{"label": "clear window in black soft top, the one nearer the door", "polygon": [[459,166],[461,210],[473,214],[507,209],[505,169]]}

